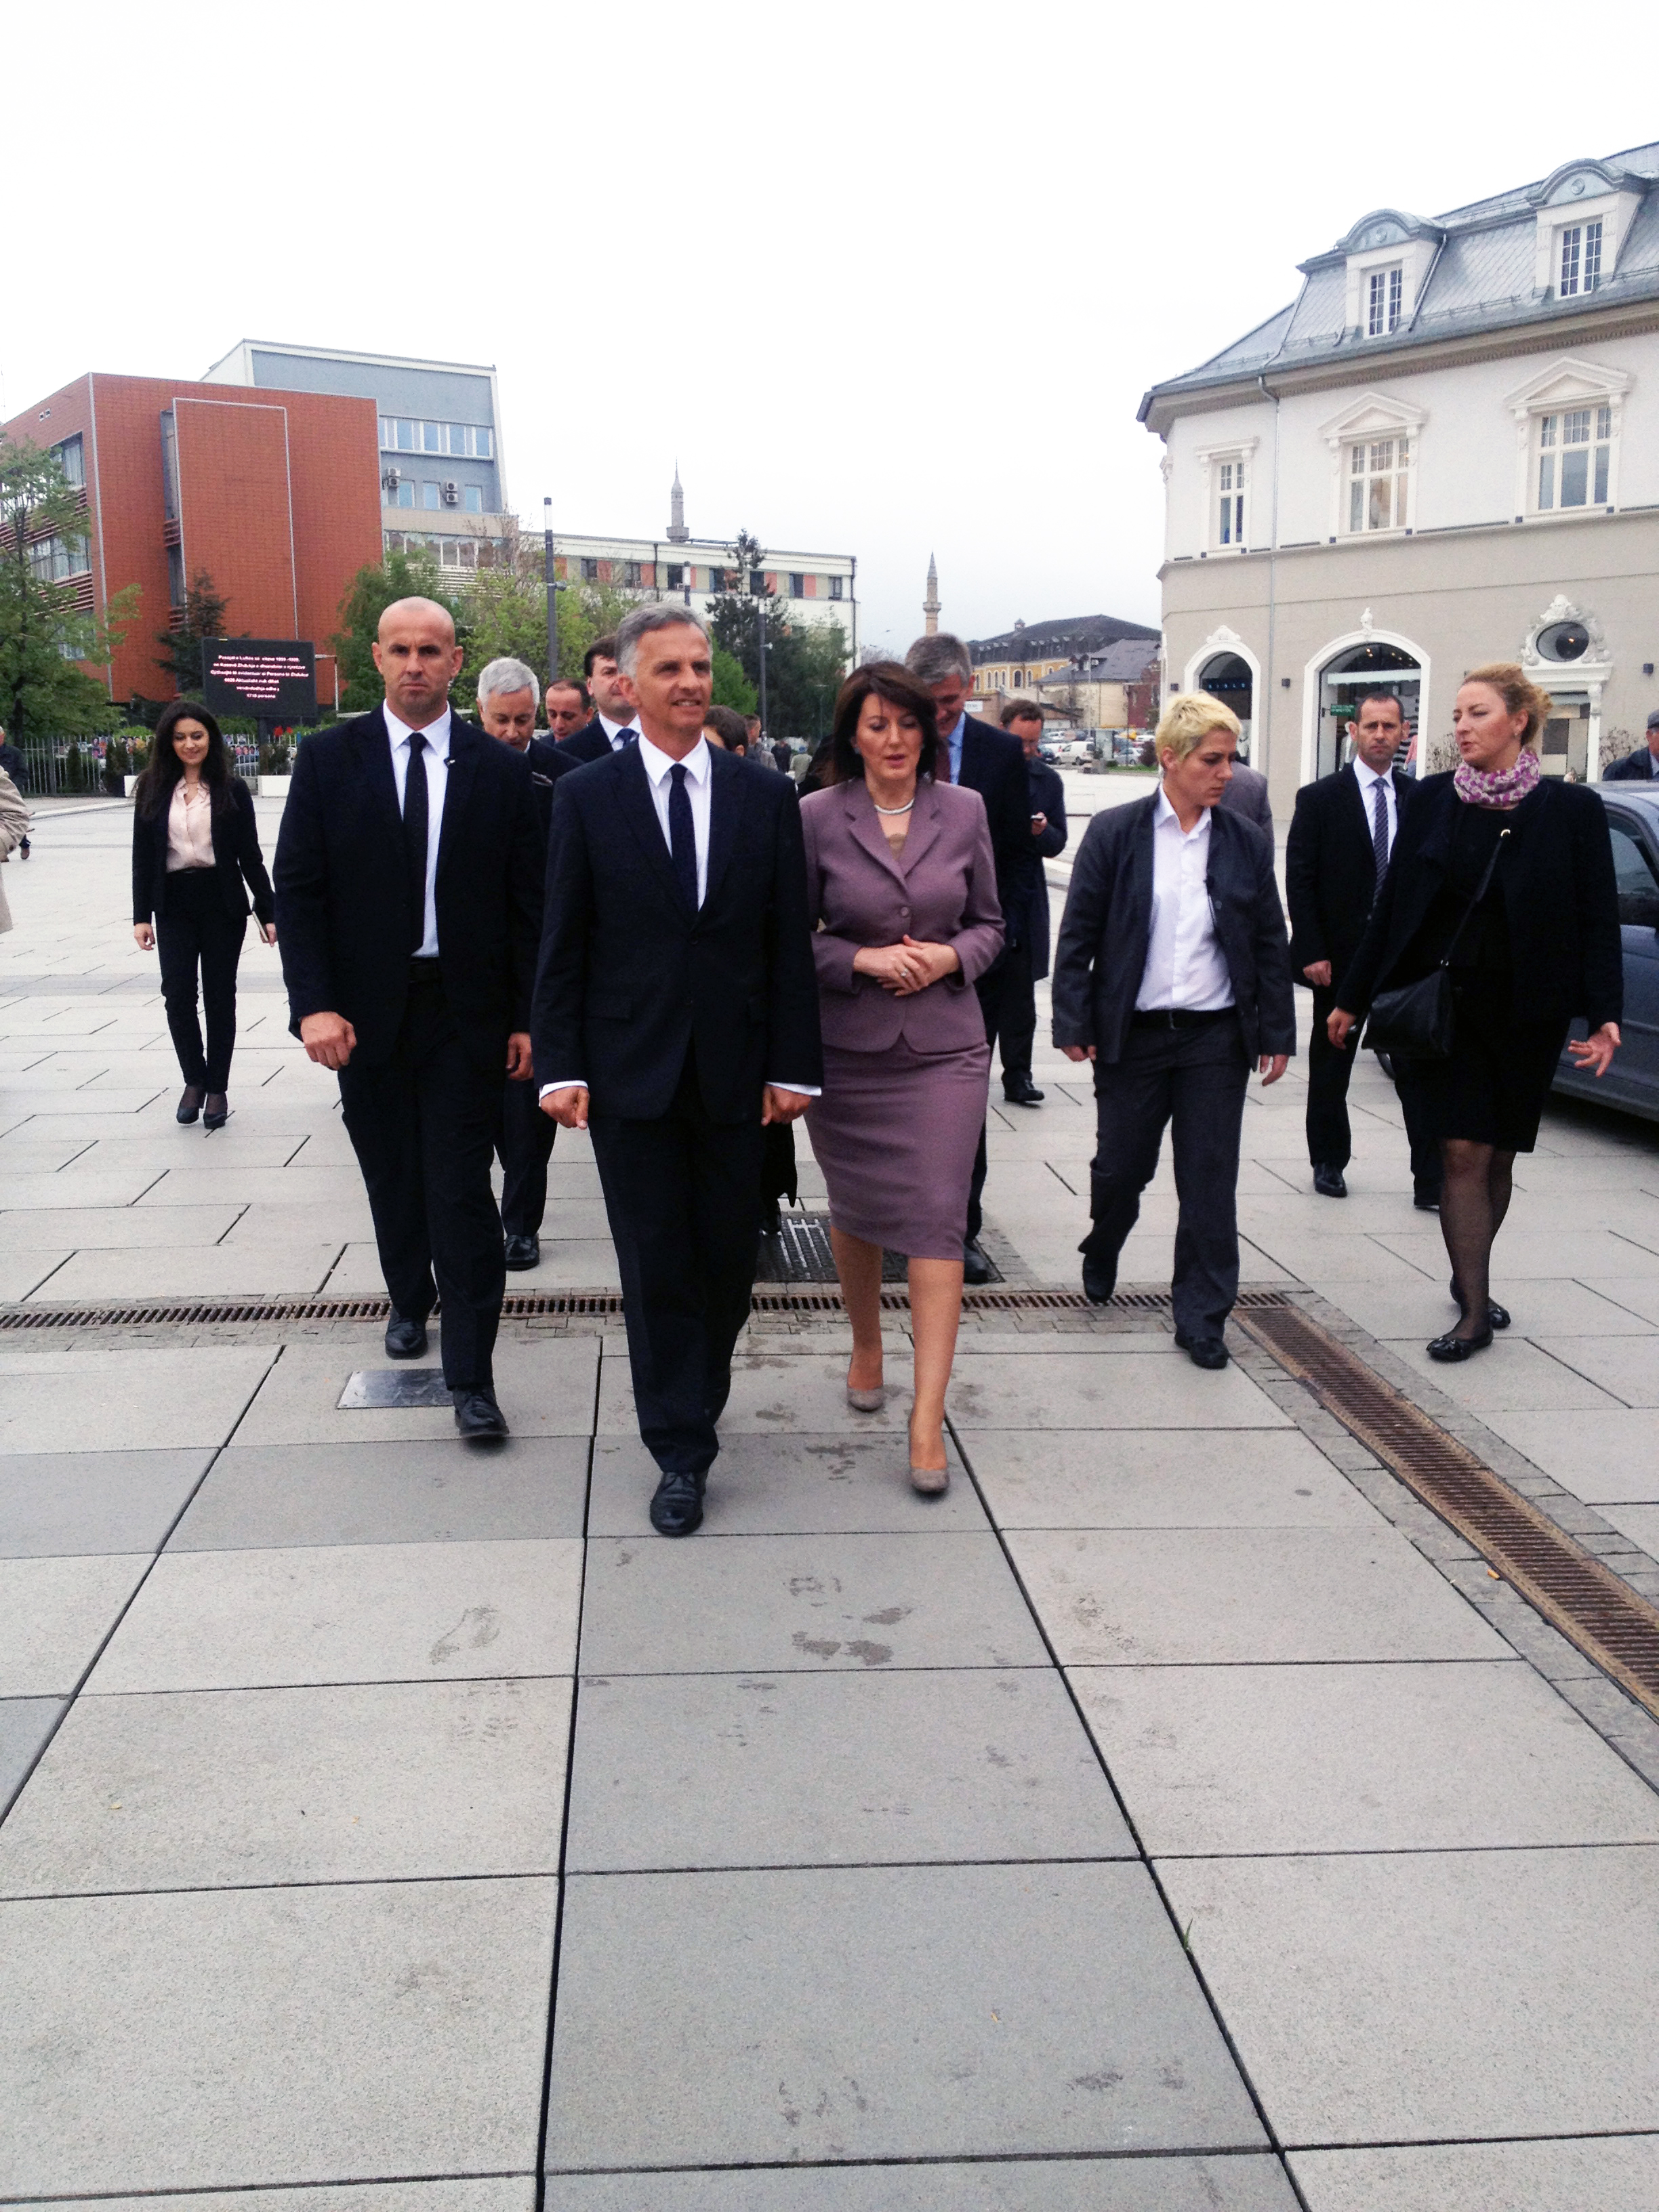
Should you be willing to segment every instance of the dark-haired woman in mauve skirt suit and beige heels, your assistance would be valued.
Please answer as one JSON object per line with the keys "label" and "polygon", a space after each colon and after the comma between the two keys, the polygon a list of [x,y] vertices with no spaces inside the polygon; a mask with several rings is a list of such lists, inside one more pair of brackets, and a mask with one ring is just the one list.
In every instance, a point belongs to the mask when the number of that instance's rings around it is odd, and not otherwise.
{"label": "dark-haired woman in mauve skirt suit and beige heels", "polygon": [[962,1237],[991,1048],[971,989],[1002,951],[984,801],[933,783],[933,699],[896,661],[836,699],[834,783],[801,803],[818,931],[823,1097],[807,1108],[852,1318],[847,1400],[885,1405],[880,1254],[909,1259],[916,1398],[909,1478],[949,1486],[945,1387],[962,1310]]}

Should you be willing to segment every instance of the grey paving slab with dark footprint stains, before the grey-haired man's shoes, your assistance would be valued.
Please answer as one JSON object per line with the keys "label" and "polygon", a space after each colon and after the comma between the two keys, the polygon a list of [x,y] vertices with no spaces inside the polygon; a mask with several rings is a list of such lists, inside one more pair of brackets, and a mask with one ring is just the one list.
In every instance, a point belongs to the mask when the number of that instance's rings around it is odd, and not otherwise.
{"label": "grey paving slab with dark footprint stains, before the grey-haired man's shoes", "polygon": [[1044,1663],[991,1535],[588,1544],[584,1674]]}

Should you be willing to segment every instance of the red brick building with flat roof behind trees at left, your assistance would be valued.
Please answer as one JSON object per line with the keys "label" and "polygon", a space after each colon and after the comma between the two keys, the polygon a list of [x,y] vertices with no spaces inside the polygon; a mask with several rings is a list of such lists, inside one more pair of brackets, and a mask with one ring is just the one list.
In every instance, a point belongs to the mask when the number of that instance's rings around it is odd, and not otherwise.
{"label": "red brick building with flat roof behind trees at left", "polygon": [[312,639],[319,703],[332,703],[341,599],[380,560],[374,400],[88,374],[0,434],[55,451],[84,491],[84,542],[35,544],[40,573],[71,582],[100,617],[139,586],[100,670],[113,699],[173,697],[155,639],[177,628],[186,586],[206,573],[230,633]]}

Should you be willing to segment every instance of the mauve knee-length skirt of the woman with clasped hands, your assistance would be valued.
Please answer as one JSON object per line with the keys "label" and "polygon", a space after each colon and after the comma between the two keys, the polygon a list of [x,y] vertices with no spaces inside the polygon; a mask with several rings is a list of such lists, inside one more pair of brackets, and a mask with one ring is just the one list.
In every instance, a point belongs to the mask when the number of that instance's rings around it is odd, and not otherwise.
{"label": "mauve knee-length skirt of the woman with clasped hands", "polygon": [[909,1259],[960,1259],[973,1155],[991,1095],[991,1046],[918,1053],[823,1048],[823,1097],[807,1106],[830,1219]]}

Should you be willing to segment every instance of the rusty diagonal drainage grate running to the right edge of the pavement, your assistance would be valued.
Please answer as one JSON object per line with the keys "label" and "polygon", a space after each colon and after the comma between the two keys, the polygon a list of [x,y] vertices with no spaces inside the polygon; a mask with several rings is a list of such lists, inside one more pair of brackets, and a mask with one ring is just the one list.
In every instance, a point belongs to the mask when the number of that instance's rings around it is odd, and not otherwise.
{"label": "rusty diagonal drainage grate running to the right edge of the pavement", "polygon": [[1659,1608],[1307,1314],[1283,1307],[1243,1329],[1586,1659],[1659,1717]]}

